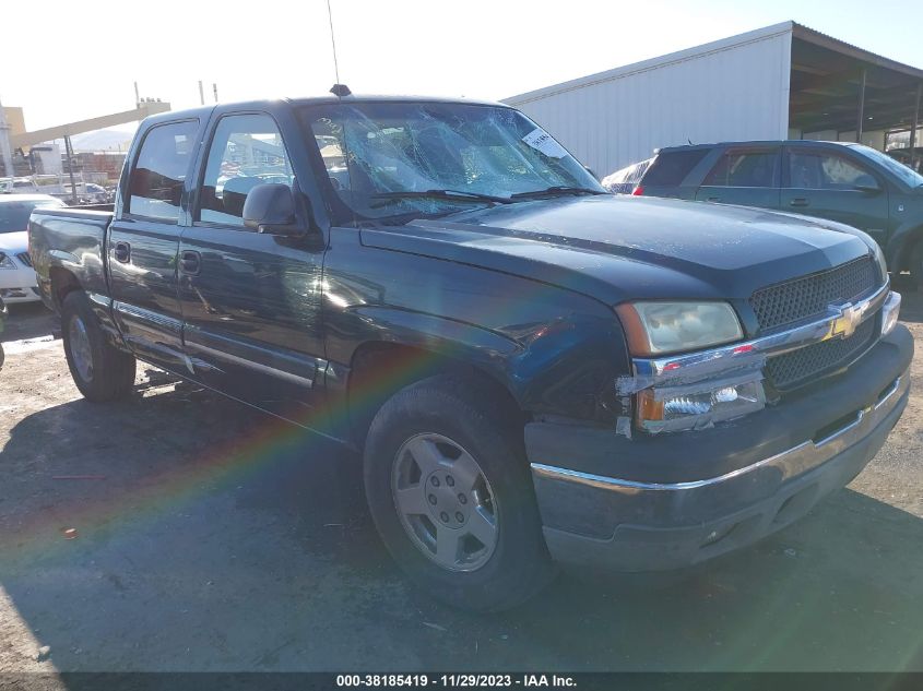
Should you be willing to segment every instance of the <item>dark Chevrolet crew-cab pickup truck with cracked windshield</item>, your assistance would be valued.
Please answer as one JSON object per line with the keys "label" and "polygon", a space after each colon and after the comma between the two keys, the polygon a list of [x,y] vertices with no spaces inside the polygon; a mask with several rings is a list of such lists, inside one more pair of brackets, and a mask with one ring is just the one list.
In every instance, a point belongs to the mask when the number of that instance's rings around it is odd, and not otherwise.
{"label": "dark Chevrolet crew-cab pickup truck with cracked windshield", "polygon": [[158,115],[111,211],[36,211],[29,237],[86,398],[130,395],[140,359],[362,450],[397,561],[475,609],[555,562],[750,544],[849,482],[908,400],[868,236],[614,198],[499,104]]}

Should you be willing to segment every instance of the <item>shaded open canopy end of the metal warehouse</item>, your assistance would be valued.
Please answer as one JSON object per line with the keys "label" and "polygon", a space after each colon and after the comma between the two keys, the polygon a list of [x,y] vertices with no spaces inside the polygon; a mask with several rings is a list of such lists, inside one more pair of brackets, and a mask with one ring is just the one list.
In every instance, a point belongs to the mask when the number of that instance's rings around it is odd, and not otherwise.
{"label": "shaded open canopy end of the metal warehouse", "polygon": [[802,132],[909,130],[923,70],[792,22],[789,127]]}

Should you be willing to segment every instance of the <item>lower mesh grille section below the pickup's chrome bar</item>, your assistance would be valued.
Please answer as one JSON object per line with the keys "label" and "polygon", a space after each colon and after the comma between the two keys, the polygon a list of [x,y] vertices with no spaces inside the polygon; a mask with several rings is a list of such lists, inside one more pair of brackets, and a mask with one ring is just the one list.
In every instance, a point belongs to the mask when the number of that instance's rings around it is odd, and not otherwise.
{"label": "lower mesh grille section below the pickup's chrome bar", "polygon": [[766,374],[780,391],[818,379],[859,356],[878,336],[878,318],[869,317],[849,338],[815,343],[766,361]]}

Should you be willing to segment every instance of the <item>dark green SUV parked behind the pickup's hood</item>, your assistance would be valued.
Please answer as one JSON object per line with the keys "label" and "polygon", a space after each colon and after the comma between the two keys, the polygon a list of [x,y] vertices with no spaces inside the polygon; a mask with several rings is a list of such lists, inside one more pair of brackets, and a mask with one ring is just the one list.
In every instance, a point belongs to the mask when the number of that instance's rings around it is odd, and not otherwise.
{"label": "dark green SUV parked behind the pickup's hood", "polygon": [[848,224],[923,285],[923,176],[844,142],[725,142],[662,148],[634,194],[761,206]]}

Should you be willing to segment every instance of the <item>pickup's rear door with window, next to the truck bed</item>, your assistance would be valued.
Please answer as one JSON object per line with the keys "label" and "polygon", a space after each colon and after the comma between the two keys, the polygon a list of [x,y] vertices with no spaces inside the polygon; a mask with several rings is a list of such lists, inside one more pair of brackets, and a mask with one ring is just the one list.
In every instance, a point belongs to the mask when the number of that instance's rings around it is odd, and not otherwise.
{"label": "pickup's rear door with window, next to the truck bed", "polygon": [[120,207],[107,239],[113,311],[138,357],[185,371],[176,259],[184,188],[199,141],[199,120],[156,124],[132,152]]}

